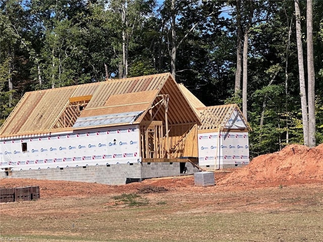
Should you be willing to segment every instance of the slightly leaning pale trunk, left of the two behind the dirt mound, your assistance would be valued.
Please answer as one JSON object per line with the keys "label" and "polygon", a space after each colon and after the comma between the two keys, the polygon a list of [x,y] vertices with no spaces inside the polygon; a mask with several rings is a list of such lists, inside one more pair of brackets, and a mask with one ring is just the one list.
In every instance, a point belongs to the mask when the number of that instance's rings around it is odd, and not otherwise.
{"label": "slightly leaning pale trunk, left of the two behind the dirt mound", "polygon": [[298,0],[295,0],[295,15],[296,15],[296,42],[297,42],[297,56],[298,56],[299,89],[300,89],[300,96],[301,96],[302,120],[303,120],[303,135],[304,135],[304,145],[308,146],[308,118],[307,118],[303,48],[302,48],[302,39],[301,39],[301,35],[302,35],[301,21],[300,21],[301,14],[300,14]]}

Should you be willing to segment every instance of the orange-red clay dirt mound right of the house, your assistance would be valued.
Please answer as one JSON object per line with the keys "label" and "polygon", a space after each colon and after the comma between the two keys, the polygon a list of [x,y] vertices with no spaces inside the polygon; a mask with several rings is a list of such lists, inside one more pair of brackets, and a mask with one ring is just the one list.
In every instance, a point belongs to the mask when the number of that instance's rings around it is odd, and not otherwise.
{"label": "orange-red clay dirt mound right of the house", "polygon": [[279,152],[260,155],[234,170],[218,185],[290,180],[323,180],[323,144],[314,148],[289,145]]}

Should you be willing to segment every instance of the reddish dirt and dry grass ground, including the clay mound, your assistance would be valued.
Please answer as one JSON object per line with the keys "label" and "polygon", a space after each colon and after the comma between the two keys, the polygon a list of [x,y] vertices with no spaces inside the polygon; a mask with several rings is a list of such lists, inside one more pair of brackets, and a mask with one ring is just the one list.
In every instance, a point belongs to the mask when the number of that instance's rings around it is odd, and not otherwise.
{"label": "reddish dirt and dry grass ground, including the clay mound", "polygon": [[[26,241],[183,241],[178,230],[188,241],[323,241],[323,144],[311,149],[290,145],[245,167],[215,171],[214,177],[211,187],[194,186],[193,176],[122,186],[1,179],[5,188],[39,186],[41,199],[1,205],[0,241],[18,236]],[[114,199],[122,194],[140,194],[149,206],[129,209]],[[114,225],[120,219],[127,229]],[[196,221],[182,227],[191,219]],[[218,227],[219,220],[228,227]],[[266,224],[263,232],[256,229],[259,222]]]}

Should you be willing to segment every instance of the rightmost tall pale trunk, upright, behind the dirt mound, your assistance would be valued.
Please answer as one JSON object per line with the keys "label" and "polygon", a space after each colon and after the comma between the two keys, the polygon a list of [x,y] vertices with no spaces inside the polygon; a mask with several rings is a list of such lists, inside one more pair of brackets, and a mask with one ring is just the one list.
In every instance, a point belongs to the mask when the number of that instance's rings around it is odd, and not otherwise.
{"label": "rightmost tall pale trunk, upright, behind the dirt mound", "polygon": [[307,82],[308,82],[308,146],[316,145],[315,139],[315,72],[313,54],[313,9],[312,0],[307,0]]}

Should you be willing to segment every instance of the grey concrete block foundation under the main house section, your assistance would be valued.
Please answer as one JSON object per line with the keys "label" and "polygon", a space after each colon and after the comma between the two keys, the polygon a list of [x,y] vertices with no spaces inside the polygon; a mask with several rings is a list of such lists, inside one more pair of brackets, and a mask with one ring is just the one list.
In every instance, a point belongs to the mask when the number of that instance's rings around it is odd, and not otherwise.
{"label": "grey concrete block foundation under the main house section", "polygon": [[[0,172],[0,178],[69,180],[83,181],[86,183],[122,185],[131,183],[133,181],[140,181],[145,178],[180,175],[181,163],[139,162],[128,164],[61,167],[35,170],[13,170]],[[185,166],[187,168],[185,174],[193,174],[199,171],[190,162],[186,162]]]}

